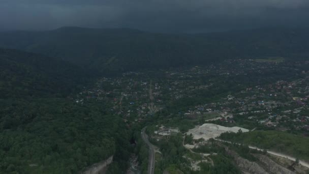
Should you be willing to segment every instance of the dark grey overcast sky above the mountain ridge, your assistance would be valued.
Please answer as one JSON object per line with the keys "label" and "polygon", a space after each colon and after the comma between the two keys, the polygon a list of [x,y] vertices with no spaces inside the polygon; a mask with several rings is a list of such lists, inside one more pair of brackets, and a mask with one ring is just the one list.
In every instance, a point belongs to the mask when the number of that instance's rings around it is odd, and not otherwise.
{"label": "dark grey overcast sky above the mountain ridge", "polygon": [[309,0],[0,0],[0,30],[209,32],[309,25]]}

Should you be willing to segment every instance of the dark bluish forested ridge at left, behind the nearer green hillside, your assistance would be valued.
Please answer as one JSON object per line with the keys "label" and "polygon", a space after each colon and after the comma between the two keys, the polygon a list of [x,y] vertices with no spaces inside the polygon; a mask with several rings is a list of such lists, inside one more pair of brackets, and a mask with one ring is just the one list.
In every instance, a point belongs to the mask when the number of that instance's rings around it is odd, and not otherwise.
{"label": "dark bluish forested ridge at left, behind the nearer green hillside", "polygon": [[0,98],[65,96],[88,75],[68,62],[13,49],[0,49]]}

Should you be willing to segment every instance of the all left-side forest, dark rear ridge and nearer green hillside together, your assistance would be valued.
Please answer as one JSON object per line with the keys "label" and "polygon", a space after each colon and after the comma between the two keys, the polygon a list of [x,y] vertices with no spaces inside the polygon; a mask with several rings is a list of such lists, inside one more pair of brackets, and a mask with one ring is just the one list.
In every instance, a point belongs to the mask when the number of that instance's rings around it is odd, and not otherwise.
{"label": "all left-side forest, dark rear ridge and nearer green hillside together", "polygon": [[126,167],[122,119],[107,103],[68,98],[87,77],[61,60],[0,49],[0,173],[78,173],[111,155],[114,168]]}

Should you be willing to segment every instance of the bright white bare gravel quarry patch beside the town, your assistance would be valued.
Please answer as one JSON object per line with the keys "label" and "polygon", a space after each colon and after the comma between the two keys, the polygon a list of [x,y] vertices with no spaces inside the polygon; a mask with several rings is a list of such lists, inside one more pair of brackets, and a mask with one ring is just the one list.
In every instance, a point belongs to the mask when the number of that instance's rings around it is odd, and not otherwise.
{"label": "bright white bare gravel quarry patch beside the town", "polygon": [[187,134],[190,135],[192,133],[194,139],[204,138],[208,140],[210,138],[216,138],[220,136],[224,132],[238,132],[238,130],[242,132],[249,132],[248,129],[240,128],[240,127],[224,127],[215,124],[205,123],[202,126],[197,126],[194,129],[190,129]]}

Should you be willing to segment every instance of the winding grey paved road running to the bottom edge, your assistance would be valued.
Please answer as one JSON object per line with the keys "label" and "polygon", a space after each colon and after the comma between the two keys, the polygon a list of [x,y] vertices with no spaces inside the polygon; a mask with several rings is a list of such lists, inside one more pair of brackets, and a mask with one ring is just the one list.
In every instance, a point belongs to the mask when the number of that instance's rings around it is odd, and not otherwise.
{"label": "winding grey paved road running to the bottom edge", "polygon": [[144,127],[142,129],[141,136],[142,136],[142,139],[144,140],[144,142],[149,147],[149,160],[148,160],[148,171],[147,171],[147,173],[153,174],[154,163],[156,162],[156,160],[154,159],[154,155],[156,154],[156,152],[158,152],[158,148],[149,142],[148,135],[145,133],[145,129],[146,129],[146,127]]}

